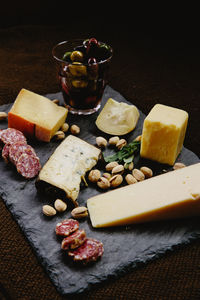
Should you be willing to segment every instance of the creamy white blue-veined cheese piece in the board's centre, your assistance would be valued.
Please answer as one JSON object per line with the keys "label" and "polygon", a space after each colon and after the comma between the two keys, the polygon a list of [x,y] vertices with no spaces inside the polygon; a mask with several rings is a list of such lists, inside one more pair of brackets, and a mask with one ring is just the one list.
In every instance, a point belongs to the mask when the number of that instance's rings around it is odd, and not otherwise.
{"label": "creamy white blue-veined cheese piece in the board's centre", "polygon": [[43,166],[38,181],[63,190],[66,197],[77,205],[81,178],[96,165],[100,152],[95,146],[69,135]]}

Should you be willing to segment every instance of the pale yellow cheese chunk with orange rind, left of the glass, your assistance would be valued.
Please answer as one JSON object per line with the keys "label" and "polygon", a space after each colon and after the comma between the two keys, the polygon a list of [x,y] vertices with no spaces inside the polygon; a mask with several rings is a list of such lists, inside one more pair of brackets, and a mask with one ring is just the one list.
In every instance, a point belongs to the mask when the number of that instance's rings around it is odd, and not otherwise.
{"label": "pale yellow cheese chunk with orange rind, left of the glass", "polygon": [[22,89],[8,113],[8,127],[49,142],[65,122],[67,112],[48,98]]}

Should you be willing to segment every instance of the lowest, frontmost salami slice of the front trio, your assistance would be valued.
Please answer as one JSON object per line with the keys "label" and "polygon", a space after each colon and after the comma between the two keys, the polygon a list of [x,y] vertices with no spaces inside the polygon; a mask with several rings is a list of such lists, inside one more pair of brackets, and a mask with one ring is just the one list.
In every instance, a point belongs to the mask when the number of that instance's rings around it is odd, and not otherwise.
{"label": "lowest, frontmost salami slice of the front trio", "polygon": [[68,251],[68,255],[76,262],[87,264],[94,262],[103,255],[103,244],[95,239],[87,238],[78,248]]}

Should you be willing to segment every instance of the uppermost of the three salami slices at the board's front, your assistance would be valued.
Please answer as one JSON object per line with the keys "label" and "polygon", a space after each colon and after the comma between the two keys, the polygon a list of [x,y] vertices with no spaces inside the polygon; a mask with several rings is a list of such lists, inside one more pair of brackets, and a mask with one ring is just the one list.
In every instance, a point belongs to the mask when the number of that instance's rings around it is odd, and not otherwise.
{"label": "uppermost of the three salami slices at the board's front", "polygon": [[74,219],[66,219],[56,225],[56,234],[68,236],[79,229],[79,222]]}

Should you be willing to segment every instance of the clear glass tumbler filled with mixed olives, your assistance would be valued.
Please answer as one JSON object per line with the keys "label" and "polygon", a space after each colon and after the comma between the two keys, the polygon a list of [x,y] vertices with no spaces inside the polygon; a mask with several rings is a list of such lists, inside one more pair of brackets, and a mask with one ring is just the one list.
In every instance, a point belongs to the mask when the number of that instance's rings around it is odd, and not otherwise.
{"label": "clear glass tumbler filled with mixed olives", "polygon": [[64,102],[73,114],[88,115],[101,106],[113,49],[95,38],[64,41],[52,50]]}

